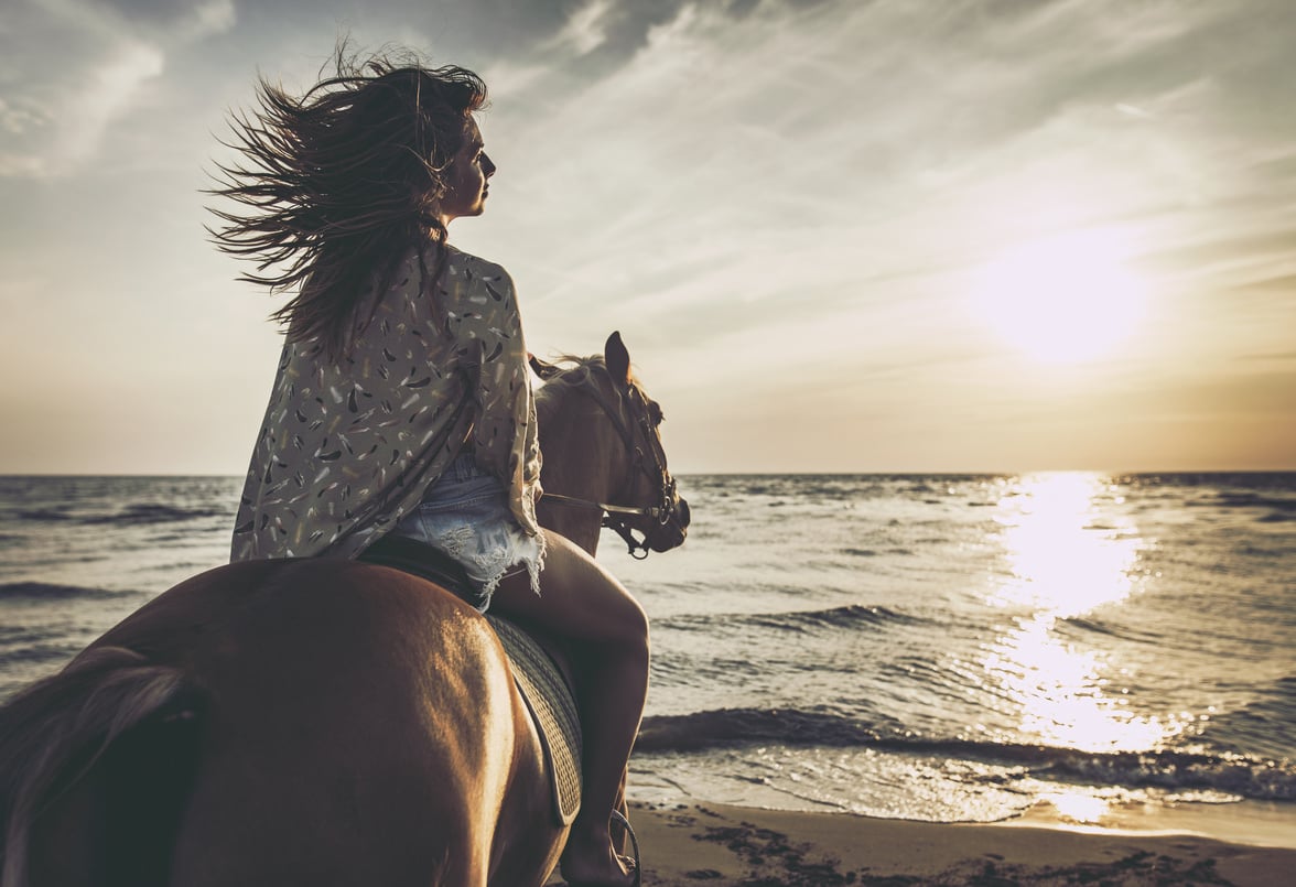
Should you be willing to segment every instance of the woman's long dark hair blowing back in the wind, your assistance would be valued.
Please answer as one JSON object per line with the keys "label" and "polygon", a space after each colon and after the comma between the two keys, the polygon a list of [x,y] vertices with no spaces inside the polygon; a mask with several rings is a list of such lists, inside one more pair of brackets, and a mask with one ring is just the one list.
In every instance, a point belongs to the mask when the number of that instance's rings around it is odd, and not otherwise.
{"label": "woman's long dark hair blowing back in the wind", "polygon": [[[445,243],[446,170],[486,84],[404,53],[356,60],[340,47],[334,63],[301,97],[260,78],[259,107],[231,113],[233,139],[223,144],[242,158],[218,164],[207,193],[238,206],[213,208],[226,224],[207,230],[223,251],[257,263],[240,280],[271,293],[298,287],[271,315],[289,341],[320,337],[338,355],[368,321],[356,317],[365,294],[388,289],[413,245]],[[443,264],[438,249],[434,278]]]}

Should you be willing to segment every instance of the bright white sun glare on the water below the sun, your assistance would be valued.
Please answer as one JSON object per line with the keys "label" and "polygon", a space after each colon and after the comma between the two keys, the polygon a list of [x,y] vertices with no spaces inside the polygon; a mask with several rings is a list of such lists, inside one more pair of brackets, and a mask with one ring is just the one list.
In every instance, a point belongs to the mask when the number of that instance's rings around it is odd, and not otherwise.
{"label": "bright white sun glare on the water below the sun", "polygon": [[[1059,620],[1118,605],[1134,592],[1144,539],[1120,513],[1120,491],[1096,474],[1024,478],[998,504],[994,543],[1004,570],[989,602],[1012,611],[1011,627],[981,660],[1028,741],[1083,751],[1142,751],[1185,728],[1129,711],[1111,654],[1080,649]],[[1115,675],[1113,675],[1115,672]]]}

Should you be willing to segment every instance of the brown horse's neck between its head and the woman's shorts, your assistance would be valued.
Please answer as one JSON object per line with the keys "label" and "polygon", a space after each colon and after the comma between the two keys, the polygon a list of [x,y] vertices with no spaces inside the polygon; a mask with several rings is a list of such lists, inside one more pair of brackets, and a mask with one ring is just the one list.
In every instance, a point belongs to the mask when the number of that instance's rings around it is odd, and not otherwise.
{"label": "brown horse's neck between its head and the woman's shorts", "polygon": [[[623,447],[592,400],[568,391],[539,420],[544,492],[607,502],[621,483]],[[559,505],[540,499],[540,524],[566,536],[594,554],[599,546],[603,513],[592,508]]]}

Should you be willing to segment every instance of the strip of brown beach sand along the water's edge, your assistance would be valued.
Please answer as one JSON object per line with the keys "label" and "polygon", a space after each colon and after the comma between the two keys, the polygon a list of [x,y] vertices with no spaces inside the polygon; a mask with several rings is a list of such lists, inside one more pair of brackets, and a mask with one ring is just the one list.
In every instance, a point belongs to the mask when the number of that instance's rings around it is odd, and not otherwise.
{"label": "strip of brown beach sand along the water's edge", "polygon": [[1191,833],[946,825],[723,804],[635,804],[631,820],[645,887],[1296,884],[1296,834],[1279,842],[1286,847],[1260,847]]}

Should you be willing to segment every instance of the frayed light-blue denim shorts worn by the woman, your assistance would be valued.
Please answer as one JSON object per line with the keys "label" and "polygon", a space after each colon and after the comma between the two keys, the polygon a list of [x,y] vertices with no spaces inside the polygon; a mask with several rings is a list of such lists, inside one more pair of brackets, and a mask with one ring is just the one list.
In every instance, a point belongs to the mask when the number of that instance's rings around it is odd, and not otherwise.
{"label": "frayed light-blue denim shorts worn by the woman", "polygon": [[527,536],[508,506],[508,491],[473,455],[460,453],[422,495],[413,511],[391,530],[432,545],[468,572],[486,612],[500,579],[526,567],[539,594],[540,540]]}

